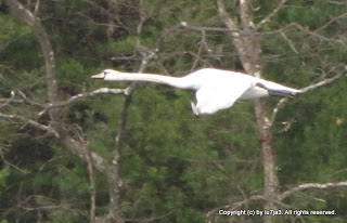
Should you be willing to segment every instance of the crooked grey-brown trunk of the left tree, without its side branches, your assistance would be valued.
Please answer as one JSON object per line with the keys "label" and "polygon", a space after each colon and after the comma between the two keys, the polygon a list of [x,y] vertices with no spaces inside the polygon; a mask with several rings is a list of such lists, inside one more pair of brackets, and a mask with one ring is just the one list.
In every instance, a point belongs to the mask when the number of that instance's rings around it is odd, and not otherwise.
{"label": "crooked grey-brown trunk of the left tree, without its side branches", "polygon": [[[55,60],[54,52],[44,27],[39,18],[37,18],[30,11],[26,10],[23,4],[16,0],[4,0],[4,2],[13,10],[13,12],[23,19],[28,26],[33,28],[46,62],[46,77],[47,77],[47,93],[50,104],[59,102],[57,81],[55,78]],[[110,185],[110,217],[113,222],[124,222],[119,206],[119,176],[118,166],[108,165],[102,157],[95,153],[91,153],[89,144],[82,139],[75,140],[68,134],[62,120],[62,110],[60,107],[50,109],[51,126],[59,134],[59,142],[62,146],[77,155],[85,161],[90,161],[92,166],[102,172],[107,179]]]}

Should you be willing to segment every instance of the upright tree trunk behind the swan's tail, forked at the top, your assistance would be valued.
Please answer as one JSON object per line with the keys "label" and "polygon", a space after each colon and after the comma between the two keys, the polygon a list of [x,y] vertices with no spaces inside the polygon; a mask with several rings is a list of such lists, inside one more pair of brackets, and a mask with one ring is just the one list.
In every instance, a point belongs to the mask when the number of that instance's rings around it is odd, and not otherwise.
{"label": "upright tree trunk behind the swan's tail, forked at the top", "polygon": [[[240,60],[248,75],[260,78],[260,42],[256,35],[254,35],[255,27],[253,23],[253,15],[249,12],[249,2],[247,0],[240,0],[240,16],[241,26],[235,21],[229,17],[226,12],[222,0],[217,1],[218,13],[224,25],[232,31],[230,36],[234,45],[236,47]],[[267,104],[264,100],[258,100],[255,103],[255,117],[257,121],[257,129],[259,141],[262,150],[264,165],[264,197],[265,210],[274,210],[275,200],[279,196],[279,182],[275,169],[275,154],[273,148],[273,133],[268,118]],[[272,222],[272,215],[265,215],[265,222]]]}

